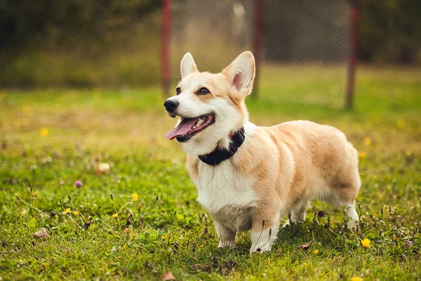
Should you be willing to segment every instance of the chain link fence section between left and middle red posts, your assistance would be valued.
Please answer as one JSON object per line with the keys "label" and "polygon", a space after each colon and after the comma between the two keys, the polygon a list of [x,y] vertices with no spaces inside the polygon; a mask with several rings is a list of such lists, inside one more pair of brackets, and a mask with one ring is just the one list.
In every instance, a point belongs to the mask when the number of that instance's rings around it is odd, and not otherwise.
{"label": "chain link fence section between left and middle red posts", "polygon": [[180,60],[192,53],[199,70],[220,72],[253,40],[253,0],[173,1],[171,72],[180,79]]}

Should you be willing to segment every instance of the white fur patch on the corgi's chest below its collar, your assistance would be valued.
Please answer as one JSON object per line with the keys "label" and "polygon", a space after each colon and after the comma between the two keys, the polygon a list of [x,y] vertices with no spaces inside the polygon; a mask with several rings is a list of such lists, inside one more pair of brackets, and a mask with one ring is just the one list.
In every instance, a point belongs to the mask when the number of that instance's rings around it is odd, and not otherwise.
{"label": "white fur patch on the corgi's chest below its collar", "polygon": [[224,207],[253,207],[256,200],[253,178],[235,171],[231,160],[210,166],[199,162],[199,177],[194,183],[199,193],[197,200],[210,214]]}

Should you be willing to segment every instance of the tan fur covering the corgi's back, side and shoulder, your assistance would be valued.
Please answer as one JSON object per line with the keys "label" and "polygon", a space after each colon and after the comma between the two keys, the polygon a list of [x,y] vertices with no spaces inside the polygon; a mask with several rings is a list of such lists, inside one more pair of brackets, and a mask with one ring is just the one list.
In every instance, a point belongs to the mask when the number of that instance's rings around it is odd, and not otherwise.
{"label": "tan fur covering the corgi's back, side and shoulder", "polygon": [[[258,178],[254,187],[259,202],[256,209],[262,217],[257,220],[265,219],[267,227],[272,223],[269,214],[281,202],[289,210],[300,198],[319,194],[318,187],[312,185],[313,176],[326,181],[340,201],[354,202],[359,191],[358,158],[356,150],[338,129],[313,122],[287,122],[260,127],[254,131],[251,141],[233,160],[243,176]],[[283,166],[286,150],[293,155],[293,166]],[[323,195],[317,197],[329,199]]]}

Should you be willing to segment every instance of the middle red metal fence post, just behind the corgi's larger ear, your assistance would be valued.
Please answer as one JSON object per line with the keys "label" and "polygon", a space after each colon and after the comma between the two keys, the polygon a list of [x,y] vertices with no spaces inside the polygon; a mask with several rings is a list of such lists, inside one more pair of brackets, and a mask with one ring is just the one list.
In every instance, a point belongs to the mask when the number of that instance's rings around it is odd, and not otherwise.
{"label": "middle red metal fence post, just behind the corgi's larger ear", "polygon": [[262,24],[263,24],[263,0],[255,0],[253,54],[255,56],[255,80],[254,91],[251,98],[257,99],[259,93],[260,59],[262,56]]}

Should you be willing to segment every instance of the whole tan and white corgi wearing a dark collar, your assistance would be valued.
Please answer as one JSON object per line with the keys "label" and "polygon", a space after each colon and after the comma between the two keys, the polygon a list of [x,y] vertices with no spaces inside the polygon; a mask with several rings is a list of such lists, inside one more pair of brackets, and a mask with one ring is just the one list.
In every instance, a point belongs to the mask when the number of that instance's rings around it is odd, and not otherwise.
{"label": "whole tan and white corgi wearing a dark collar", "polygon": [[[234,247],[236,233],[250,231],[250,253],[269,251],[281,217],[305,219],[314,199],[345,209],[359,221],[358,152],[333,126],[309,121],[256,126],[244,100],[255,77],[253,54],[241,53],[221,73],[199,72],[190,53],[181,81],[164,106],[178,117],[166,134],[187,153],[198,201],[212,216],[218,247]],[[354,220],[354,221],[352,221]]]}

